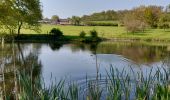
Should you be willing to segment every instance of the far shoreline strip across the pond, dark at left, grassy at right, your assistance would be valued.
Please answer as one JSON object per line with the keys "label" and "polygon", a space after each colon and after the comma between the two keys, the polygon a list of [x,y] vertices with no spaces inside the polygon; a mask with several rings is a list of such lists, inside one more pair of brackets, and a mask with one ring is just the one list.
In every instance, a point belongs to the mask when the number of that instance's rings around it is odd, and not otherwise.
{"label": "far shoreline strip across the pond, dark at left, grassy at right", "polygon": [[[20,34],[18,35],[4,35],[0,36],[0,41],[2,37],[5,38],[5,42],[12,42],[12,38],[14,37],[15,42],[26,42],[26,43],[48,43],[48,42],[83,42],[79,36],[63,36],[63,37],[54,37],[49,34]],[[88,37],[86,37],[88,38]],[[154,39],[154,38],[100,38],[100,41],[89,41],[90,42],[150,42],[150,43],[170,43],[170,39]]]}

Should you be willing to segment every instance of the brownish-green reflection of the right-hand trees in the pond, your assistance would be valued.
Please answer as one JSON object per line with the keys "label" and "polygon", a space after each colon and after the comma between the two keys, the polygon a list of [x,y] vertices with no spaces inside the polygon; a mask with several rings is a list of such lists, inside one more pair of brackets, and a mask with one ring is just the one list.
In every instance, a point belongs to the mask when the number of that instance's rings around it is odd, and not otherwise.
{"label": "brownish-green reflection of the right-hand trees in the pond", "polygon": [[146,45],[142,43],[102,43],[98,45],[98,53],[117,54],[136,63],[153,63],[164,59],[170,51],[167,46]]}

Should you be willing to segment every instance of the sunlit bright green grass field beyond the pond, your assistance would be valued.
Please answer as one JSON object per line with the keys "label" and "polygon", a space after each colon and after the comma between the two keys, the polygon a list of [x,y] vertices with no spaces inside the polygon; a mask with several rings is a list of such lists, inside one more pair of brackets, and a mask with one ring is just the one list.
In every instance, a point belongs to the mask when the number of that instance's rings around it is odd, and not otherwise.
{"label": "sunlit bright green grass field beyond the pond", "polygon": [[[59,28],[67,36],[79,36],[81,31],[89,32],[90,30],[97,30],[99,37],[111,40],[144,40],[144,41],[170,41],[170,29],[147,29],[144,33],[127,33],[124,27],[113,26],[56,26],[56,25],[42,25],[41,34],[47,34],[52,28]],[[22,30],[24,34],[37,34],[34,31]],[[87,34],[88,36],[89,34]]]}

